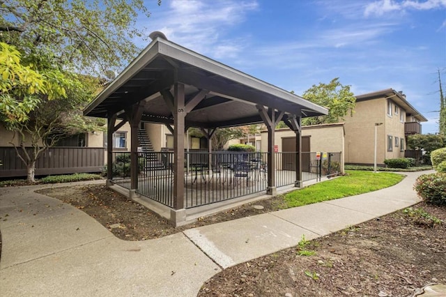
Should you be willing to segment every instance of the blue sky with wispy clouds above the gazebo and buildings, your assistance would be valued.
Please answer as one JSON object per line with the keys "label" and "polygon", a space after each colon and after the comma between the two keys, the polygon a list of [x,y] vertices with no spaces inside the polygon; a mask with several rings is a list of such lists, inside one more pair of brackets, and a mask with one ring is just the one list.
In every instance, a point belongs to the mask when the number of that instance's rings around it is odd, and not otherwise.
{"label": "blue sky with wispy clouds above the gazebo and buildings", "polygon": [[[392,88],[438,131],[446,0],[146,0],[138,20],[183,45],[302,94],[339,77],[355,95]],[[136,40],[141,47],[147,41]]]}

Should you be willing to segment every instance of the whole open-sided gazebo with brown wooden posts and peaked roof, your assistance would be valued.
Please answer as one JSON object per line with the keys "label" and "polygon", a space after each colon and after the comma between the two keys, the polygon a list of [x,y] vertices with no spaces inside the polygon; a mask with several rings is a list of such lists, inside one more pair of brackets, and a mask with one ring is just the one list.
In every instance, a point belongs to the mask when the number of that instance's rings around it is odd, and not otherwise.
{"label": "whole open-sided gazebo with brown wooden posts and peaked roof", "polygon": [[[84,115],[107,119],[107,143],[126,122],[131,127],[130,197],[138,188],[140,122],[166,125],[174,135],[171,222],[185,222],[185,131],[200,128],[209,142],[218,128],[264,123],[268,128],[266,193],[275,195],[275,126],[295,132],[295,186],[302,186],[301,119],[328,109],[173,43],[160,32],[91,104]],[[116,125],[116,119],[122,121]],[[107,181],[112,181],[112,145],[107,146]]]}

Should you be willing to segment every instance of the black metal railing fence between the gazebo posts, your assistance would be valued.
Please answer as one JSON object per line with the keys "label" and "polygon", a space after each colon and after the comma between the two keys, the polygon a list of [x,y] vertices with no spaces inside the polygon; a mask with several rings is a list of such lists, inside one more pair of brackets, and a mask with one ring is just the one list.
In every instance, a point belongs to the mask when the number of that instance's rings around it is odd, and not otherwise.
{"label": "black metal railing fence between the gazebo posts", "polygon": [[[130,189],[130,153],[114,153],[114,183]],[[296,181],[298,153],[275,153],[276,186]],[[341,153],[302,153],[302,181],[338,174]],[[185,152],[185,208],[263,192],[268,187],[268,153]],[[174,204],[174,153],[138,153],[137,193],[161,204]]]}

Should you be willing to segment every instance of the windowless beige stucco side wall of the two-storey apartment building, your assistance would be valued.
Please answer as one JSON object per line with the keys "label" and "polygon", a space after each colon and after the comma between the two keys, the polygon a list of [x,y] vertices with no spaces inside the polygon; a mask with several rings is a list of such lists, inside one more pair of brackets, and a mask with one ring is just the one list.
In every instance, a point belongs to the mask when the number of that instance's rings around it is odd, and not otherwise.
{"label": "windowless beige stucco side wall of the two-storey apartment building", "polygon": [[375,123],[377,128],[376,160],[383,164],[387,136],[385,134],[387,103],[384,98],[357,102],[353,116],[345,117],[346,163],[374,163]]}

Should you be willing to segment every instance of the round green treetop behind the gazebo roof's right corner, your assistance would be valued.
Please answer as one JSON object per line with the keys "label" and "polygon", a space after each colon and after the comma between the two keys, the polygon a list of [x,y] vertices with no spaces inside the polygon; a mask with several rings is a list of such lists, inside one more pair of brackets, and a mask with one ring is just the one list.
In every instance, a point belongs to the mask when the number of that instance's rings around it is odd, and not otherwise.
{"label": "round green treetop behind the gazebo roof's right corner", "polygon": [[353,114],[356,98],[350,91],[350,86],[344,86],[339,82],[339,77],[328,84],[319,83],[313,85],[302,95],[303,98],[318,105],[328,107],[328,115],[313,116],[302,119],[302,125],[318,125],[323,123],[337,123],[344,119],[346,114]]}

